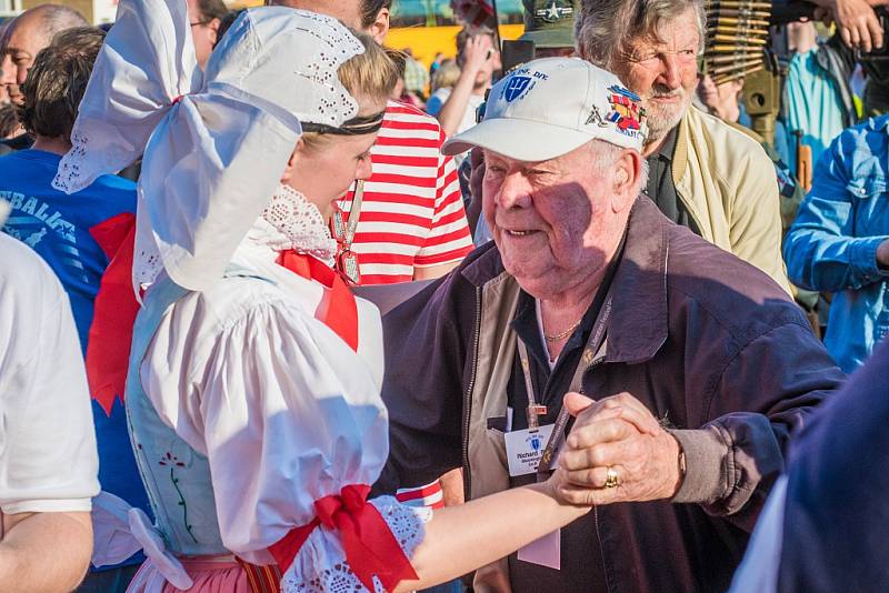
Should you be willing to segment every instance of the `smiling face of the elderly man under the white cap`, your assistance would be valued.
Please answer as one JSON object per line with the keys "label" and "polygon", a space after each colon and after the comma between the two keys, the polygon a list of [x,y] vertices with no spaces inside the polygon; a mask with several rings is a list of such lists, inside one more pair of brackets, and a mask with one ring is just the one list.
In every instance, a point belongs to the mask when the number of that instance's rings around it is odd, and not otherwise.
{"label": "smiling face of the elderly man under the white cap", "polygon": [[[590,145],[543,162],[485,151],[483,215],[506,270],[539,299],[600,272],[623,223],[616,168],[596,171]],[[617,239],[616,239],[617,237]]]}

